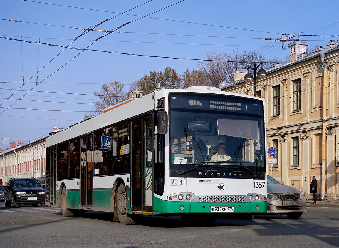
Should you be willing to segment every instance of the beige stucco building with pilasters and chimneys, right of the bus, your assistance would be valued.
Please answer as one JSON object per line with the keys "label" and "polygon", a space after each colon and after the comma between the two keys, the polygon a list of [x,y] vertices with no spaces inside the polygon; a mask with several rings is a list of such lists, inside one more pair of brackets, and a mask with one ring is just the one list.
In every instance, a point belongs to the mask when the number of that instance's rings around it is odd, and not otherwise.
{"label": "beige stucco building with pilasters and chimneys, right of the bus", "polygon": [[[339,41],[339,40],[338,40]],[[305,42],[293,42],[290,63],[272,64],[266,77],[246,83],[247,70],[221,89],[266,100],[267,147],[277,149],[277,164],[268,174],[312,198],[312,176],[318,179],[317,198],[339,198],[339,46],[330,41],[306,55]],[[252,71],[253,74],[253,71]]]}

